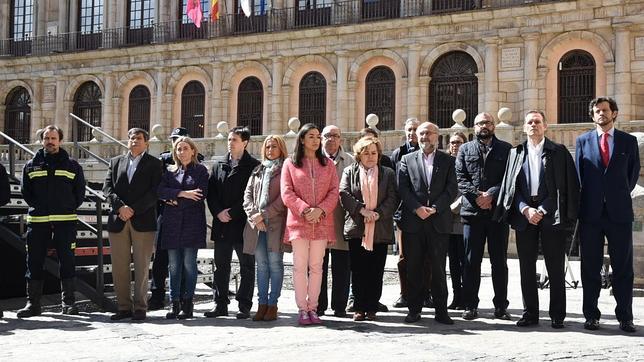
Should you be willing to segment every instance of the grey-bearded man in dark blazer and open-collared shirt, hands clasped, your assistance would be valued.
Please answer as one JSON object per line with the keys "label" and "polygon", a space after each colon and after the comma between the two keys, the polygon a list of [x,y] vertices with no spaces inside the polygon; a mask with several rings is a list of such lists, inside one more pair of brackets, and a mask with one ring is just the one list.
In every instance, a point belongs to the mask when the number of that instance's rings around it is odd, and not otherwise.
{"label": "grey-bearded man in dark blazer and open-collared shirt, hands clasped", "polygon": [[445,260],[452,229],[450,204],[456,198],[454,158],[437,151],[438,126],[425,122],[416,130],[420,149],[403,156],[398,168],[398,192],[402,200],[400,227],[405,240],[409,313],[406,323],[420,320],[425,288],[425,258],[432,271],[434,319],[453,324],[447,313]]}

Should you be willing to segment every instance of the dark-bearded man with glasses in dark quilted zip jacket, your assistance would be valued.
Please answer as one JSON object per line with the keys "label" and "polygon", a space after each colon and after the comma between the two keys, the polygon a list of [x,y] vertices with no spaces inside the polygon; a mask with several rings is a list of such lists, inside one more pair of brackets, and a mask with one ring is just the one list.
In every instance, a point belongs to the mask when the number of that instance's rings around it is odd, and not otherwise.
{"label": "dark-bearded man with glasses in dark quilted zip jacket", "polygon": [[508,307],[508,224],[492,219],[512,146],[494,136],[494,117],[474,118],[476,139],[461,146],[456,159],[458,189],[463,195],[461,218],[465,241],[463,319],[478,317],[481,262],[487,241],[494,286],[494,318],[510,320]]}

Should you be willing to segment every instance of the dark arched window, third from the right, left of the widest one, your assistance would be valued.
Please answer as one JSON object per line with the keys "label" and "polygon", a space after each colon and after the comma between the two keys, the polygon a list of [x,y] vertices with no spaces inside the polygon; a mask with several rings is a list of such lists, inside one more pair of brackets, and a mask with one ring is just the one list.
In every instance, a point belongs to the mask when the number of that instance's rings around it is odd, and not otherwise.
{"label": "dark arched window, third from the right, left of the widest one", "polygon": [[373,113],[378,116],[378,129],[392,130],[396,127],[396,76],[385,66],[369,71],[365,89],[365,118]]}

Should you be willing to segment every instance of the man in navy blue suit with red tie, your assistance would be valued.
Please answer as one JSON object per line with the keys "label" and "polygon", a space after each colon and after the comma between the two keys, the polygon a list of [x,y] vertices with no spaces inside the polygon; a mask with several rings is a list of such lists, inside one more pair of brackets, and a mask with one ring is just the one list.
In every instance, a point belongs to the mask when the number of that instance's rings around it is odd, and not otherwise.
{"label": "man in navy blue suit with red tie", "polygon": [[581,281],[584,287],[584,328],[599,328],[597,298],[604,238],[613,269],[615,315],[619,328],[635,332],[633,325],[633,205],[631,191],[637,184],[640,158],[635,137],[615,129],[617,103],[612,98],[593,99],[589,106],[595,129],[577,138],[577,173],[581,183],[579,208]]}

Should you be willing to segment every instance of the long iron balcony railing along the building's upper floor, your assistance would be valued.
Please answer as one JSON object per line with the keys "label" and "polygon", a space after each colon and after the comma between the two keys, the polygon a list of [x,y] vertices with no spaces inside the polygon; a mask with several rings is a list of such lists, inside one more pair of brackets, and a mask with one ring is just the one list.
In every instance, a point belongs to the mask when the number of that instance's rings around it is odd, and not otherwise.
{"label": "long iron balcony railing along the building's upper floor", "polygon": [[250,18],[243,14],[224,14],[216,22],[203,22],[200,28],[192,23],[171,21],[139,29],[126,27],[89,34],[72,32],[4,39],[0,40],[0,57],[125,48],[563,1],[572,0],[349,0],[319,7],[271,9]]}

